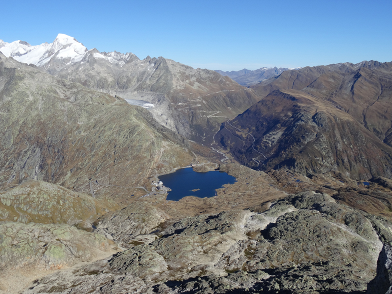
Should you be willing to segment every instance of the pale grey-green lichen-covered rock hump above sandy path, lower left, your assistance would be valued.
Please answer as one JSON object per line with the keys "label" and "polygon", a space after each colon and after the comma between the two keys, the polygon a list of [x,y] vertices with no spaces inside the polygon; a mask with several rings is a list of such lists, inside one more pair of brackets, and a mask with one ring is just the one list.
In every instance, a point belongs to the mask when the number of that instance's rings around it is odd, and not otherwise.
{"label": "pale grey-green lichen-covered rock hump above sandy path, lower left", "polygon": [[[100,234],[66,224],[0,221],[0,268],[55,269],[118,249]],[[106,253],[107,254],[107,253]]]}

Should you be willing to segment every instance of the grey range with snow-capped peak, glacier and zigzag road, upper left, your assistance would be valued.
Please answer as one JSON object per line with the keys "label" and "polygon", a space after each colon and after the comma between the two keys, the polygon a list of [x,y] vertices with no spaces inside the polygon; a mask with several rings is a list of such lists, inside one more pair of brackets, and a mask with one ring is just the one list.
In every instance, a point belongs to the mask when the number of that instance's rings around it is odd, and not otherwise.
{"label": "grey range with snow-capped peak, glacier and zigzag road, upper left", "polygon": [[34,46],[0,40],[0,51],[56,77],[144,105],[161,125],[201,143],[211,143],[225,119],[258,101],[252,89],[213,70],[163,57],[140,60],[133,53],[88,50],[65,34]]}

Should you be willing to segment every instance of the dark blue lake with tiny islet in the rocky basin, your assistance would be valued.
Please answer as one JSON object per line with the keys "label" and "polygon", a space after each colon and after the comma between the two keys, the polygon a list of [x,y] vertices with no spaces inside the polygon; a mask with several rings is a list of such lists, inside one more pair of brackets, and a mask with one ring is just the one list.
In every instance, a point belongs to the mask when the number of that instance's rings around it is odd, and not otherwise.
{"label": "dark blue lake with tiny islet in the rocky basin", "polygon": [[159,175],[159,180],[171,189],[166,199],[174,201],[178,201],[185,196],[212,197],[215,195],[215,189],[221,188],[223,184],[231,184],[236,181],[235,177],[225,172],[196,172],[191,167]]}

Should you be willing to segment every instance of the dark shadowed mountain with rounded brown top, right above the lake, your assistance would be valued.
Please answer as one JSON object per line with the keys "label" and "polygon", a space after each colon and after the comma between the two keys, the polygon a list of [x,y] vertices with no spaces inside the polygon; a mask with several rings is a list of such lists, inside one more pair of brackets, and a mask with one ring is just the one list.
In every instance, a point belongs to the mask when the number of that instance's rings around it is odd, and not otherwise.
{"label": "dark shadowed mountain with rounded brown top, right above the lake", "polygon": [[392,175],[392,148],[329,101],[275,90],[215,136],[240,162],[310,175],[340,170],[351,178]]}

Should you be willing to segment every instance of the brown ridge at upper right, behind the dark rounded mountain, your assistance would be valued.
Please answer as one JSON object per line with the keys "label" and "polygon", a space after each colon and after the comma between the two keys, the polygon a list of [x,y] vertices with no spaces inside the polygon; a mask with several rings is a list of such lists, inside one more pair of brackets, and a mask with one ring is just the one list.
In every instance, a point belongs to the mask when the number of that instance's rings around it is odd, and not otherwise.
{"label": "brown ridge at upper right, behind the dark rounded mountain", "polygon": [[261,96],[295,89],[327,100],[390,144],[392,63],[363,61],[287,70],[252,87]]}

